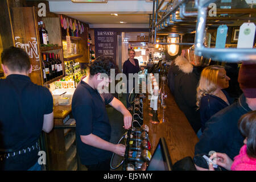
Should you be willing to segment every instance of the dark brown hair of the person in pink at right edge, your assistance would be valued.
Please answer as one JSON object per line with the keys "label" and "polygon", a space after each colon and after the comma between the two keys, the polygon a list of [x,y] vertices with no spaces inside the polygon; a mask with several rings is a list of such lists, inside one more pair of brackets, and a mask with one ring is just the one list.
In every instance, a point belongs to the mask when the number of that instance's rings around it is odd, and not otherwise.
{"label": "dark brown hair of the person in pink at right edge", "polygon": [[246,154],[256,158],[256,111],[243,114],[238,121],[238,129],[247,137]]}

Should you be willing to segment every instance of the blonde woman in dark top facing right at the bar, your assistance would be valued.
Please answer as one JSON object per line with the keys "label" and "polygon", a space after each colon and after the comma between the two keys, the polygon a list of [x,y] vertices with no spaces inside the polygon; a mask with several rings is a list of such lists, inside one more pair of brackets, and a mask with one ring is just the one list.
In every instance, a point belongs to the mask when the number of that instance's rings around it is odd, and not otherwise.
{"label": "blonde woman in dark top facing right at the bar", "polygon": [[[201,72],[197,87],[196,105],[200,109],[202,133],[205,129],[205,123],[212,115],[232,104],[232,98],[224,90],[229,87],[229,80],[224,67],[220,65],[210,65]],[[200,137],[200,135],[199,130],[197,136]]]}

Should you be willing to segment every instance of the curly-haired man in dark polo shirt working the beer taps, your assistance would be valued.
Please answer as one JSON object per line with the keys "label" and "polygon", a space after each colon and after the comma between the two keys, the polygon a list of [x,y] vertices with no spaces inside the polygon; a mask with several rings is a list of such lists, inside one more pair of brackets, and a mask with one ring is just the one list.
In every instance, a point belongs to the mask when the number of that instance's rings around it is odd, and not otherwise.
{"label": "curly-haired man in dark polo shirt working the beer taps", "polygon": [[[100,89],[109,85],[110,69],[116,69],[112,57],[97,57],[89,67],[89,75],[82,77],[72,98],[72,113],[76,120],[77,149],[88,171],[109,171],[112,152],[125,155],[123,144],[110,143],[111,126],[105,105],[123,114],[125,129],[131,127],[129,110],[110,93]],[[108,78],[102,75],[108,75]]]}

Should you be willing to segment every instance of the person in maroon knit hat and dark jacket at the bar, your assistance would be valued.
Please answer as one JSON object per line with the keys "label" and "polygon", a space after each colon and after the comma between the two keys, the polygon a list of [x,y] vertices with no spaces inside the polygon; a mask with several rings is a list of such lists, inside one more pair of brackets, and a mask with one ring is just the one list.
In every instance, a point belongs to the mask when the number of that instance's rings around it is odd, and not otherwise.
{"label": "person in maroon knit hat and dark jacket at the bar", "polygon": [[216,151],[233,159],[239,154],[244,137],[238,130],[238,120],[243,114],[256,110],[255,73],[255,63],[242,63],[238,82],[243,94],[237,102],[218,111],[205,123],[204,133],[195,146],[195,155],[208,155],[210,151]]}

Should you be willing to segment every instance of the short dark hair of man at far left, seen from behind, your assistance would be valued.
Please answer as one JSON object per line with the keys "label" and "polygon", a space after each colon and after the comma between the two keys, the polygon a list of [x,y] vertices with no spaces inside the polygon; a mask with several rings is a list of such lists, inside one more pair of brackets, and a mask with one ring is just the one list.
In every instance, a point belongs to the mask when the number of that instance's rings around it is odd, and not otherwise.
{"label": "short dark hair of man at far left, seen from behind", "polygon": [[30,69],[30,58],[22,48],[11,46],[4,49],[1,60],[10,71],[27,72]]}

